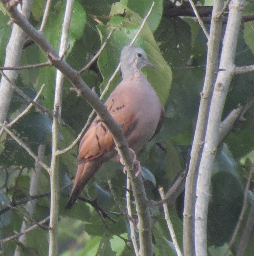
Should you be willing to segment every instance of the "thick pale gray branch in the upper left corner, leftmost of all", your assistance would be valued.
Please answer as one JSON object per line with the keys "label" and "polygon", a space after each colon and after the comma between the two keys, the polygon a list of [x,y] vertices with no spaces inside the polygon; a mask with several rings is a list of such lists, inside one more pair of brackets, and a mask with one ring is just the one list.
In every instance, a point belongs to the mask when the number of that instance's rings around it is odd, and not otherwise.
{"label": "thick pale gray branch in the upper left corner, leftmost of all", "polygon": [[[23,16],[28,18],[30,16],[32,7],[31,0],[24,0],[22,3],[21,13]],[[20,8],[19,8],[20,9]],[[17,25],[13,24],[13,29],[11,31],[10,40],[6,47],[6,56],[4,61],[4,66],[18,66],[20,62],[20,56],[25,41],[25,33]],[[18,75],[17,71],[5,71],[5,74],[10,78],[11,81],[15,81]],[[6,119],[8,109],[11,102],[11,96],[13,93],[13,88],[9,85],[8,81],[1,78],[0,82],[0,123],[3,123]]]}

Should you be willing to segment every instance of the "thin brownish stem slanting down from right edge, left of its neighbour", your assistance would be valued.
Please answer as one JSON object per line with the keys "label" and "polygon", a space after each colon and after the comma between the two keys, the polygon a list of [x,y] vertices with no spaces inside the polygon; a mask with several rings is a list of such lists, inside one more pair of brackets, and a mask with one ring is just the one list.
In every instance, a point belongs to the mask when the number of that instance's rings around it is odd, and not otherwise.
{"label": "thin brownish stem slanting down from right edge, left of its neighbour", "polygon": [[241,209],[241,213],[239,215],[239,218],[238,218],[238,221],[237,221],[237,224],[236,224],[236,228],[234,229],[234,233],[233,233],[233,235],[230,239],[229,245],[227,247],[226,252],[224,253],[224,256],[227,256],[227,254],[229,253],[230,248],[232,247],[234,241],[236,240],[236,237],[237,237],[237,234],[239,232],[241,223],[243,221],[243,216],[244,216],[244,213],[245,213],[247,205],[248,205],[247,204],[247,202],[248,202],[248,192],[249,192],[251,177],[252,177],[253,173],[254,173],[254,163],[251,165],[250,173],[249,173],[248,180],[247,180],[247,183],[246,183],[246,187],[245,187],[245,191],[244,191],[244,197],[243,197],[243,207]]}

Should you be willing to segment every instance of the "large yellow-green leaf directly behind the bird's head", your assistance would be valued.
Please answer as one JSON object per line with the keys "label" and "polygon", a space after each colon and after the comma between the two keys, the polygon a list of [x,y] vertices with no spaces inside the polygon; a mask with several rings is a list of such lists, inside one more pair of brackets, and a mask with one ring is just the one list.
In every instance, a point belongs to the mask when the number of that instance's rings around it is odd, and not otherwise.
{"label": "large yellow-green leaf directly behind the bird's head", "polygon": [[[140,18],[138,14],[132,12],[121,3],[115,3],[112,5],[111,15],[119,15],[119,13],[121,14],[124,12],[126,15],[123,19],[118,21],[119,24],[112,25],[109,21],[107,26],[101,24],[97,25],[101,41],[104,41],[104,38],[107,37],[109,31],[117,25],[113,36],[98,59],[98,66],[102,77],[104,78],[101,89],[105,87],[109,77],[118,65],[122,48],[131,42],[139,29],[139,24],[142,22],[142,18]],[[161,55],[159,47],[154,40],[152,31],[147,25],[144,26],[135,44],[139,45],[146,51],[148,58],[155,65],[155,69],[149,67],[146,69],[147,79],[153,85],[161,102],[164,104],[170,90],[172,73],[167,62]],[[115,85],[120,81],[120,76],[117,76],[113,81],[109,92],[111,92]]]}

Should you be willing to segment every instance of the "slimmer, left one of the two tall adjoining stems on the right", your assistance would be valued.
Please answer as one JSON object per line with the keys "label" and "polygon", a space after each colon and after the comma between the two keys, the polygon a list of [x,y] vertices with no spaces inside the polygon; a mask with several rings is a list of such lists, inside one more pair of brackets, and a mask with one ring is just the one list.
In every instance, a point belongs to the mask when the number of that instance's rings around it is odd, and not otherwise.
{"label": "slimmer, left one of the two tall adjoining stems on the right", "polygon": [[191,149],[191,160],[185,183],[184,198],[184,255],[195,255],[194,243],[194,207],[196,199],[196,180],[199,161],[204,143],[205,130],[208,120],[210,101],[212,98],[215,72],[218,71],[219,45],[222,28],[222,17],[216,18],[217,13],[222,10],[223,0],[216,0],[213,6],[210,37],[208,40],[208,53],[206,61],[206,74],[201,101],[199,105],[198,120]]}

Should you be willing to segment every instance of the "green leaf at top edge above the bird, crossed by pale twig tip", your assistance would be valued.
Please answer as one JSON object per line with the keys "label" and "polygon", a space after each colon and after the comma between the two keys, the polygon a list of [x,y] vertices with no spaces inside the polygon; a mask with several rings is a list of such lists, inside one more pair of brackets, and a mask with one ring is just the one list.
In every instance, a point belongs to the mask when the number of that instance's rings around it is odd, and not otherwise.
{"label": "green leaf at top edge above the bird, crossed by pale twig tip", "polygon": [[145,18],[146,14],[150,10],[152,3],[154,7],[152,13],[148,17],[147,24],[152,31],[155,31],[160,24],[160,20],[163,14],[163,0],[121,0],[120,3],[126,5],[132,11],[139,14],[140,17]]}

